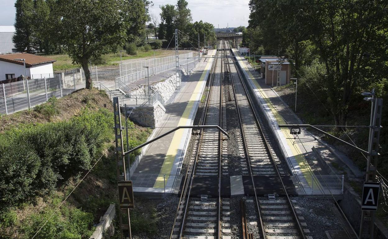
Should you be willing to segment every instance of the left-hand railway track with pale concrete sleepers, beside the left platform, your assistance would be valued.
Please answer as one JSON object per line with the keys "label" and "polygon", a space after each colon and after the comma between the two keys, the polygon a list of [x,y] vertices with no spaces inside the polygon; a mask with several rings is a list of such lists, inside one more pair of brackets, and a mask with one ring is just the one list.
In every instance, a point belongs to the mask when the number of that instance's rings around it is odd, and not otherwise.
{"label": "left-hand railway track with pale concrete sleepers, beside the left platform", "polygon": [[[222,43],[219,48],[222,48]],[[219,55],[220,52],[217,52],[216,56]],[[226,121],[223,119],[225,102],[222,100],[223,59],[215,59],[200,124],[226,127]],[[222,135],[218,129],[203,129],[196,139],[197,148],[192,153],[170,238],[221,238],[221,226],[227,226],[221,222],[226,219],[222,218],[224,211],[221,210],[227,208],[223,206],[226,201],[221,201],[219,189],[220,175],[227,174],[227,168],[223,166],[222,169],[222,165],[225,165],[222,164],[222,159],[226,160],[227,153],[222,153],[225,143],[221,143],[221,139]],[[218,197],[205,200],[202,197],[190,196],[194,177],[217,177]]]}

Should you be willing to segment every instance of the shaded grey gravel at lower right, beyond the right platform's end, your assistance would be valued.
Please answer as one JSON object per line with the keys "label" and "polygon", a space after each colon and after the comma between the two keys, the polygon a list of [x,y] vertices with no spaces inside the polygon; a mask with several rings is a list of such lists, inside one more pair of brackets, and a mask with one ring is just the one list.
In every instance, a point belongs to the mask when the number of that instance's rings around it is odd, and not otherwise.
{"label": "shaded grey gravel at lower right, beyond the right platform's end", "polygon": [[315,199],[308,197],[291,197],[296,200],[294,206],[298,206],[302,216],[305,218],[307,228],[310,233],[307,236],[316,238],[326,238],[326,230],[343,230],[340,220],[334,210],[335,205],[332,200]]}

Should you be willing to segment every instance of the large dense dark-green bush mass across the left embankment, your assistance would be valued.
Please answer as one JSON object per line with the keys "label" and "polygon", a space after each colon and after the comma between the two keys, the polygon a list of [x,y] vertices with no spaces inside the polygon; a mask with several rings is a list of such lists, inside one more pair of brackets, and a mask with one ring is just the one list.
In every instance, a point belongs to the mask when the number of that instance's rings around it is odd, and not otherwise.
{"label": "large dense dark-green bush mass across the left embankment", "polygon": [[0,208],[51,193],[90,169],[112,125],[109,111],[85,110],[67,122],[22,125],[0,135]]}

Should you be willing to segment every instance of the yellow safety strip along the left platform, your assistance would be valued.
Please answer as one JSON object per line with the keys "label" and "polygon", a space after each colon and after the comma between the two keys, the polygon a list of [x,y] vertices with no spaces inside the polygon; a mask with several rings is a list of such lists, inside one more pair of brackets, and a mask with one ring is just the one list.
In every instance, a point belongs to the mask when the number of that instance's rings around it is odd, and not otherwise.
{"label": "yellow safety strip along the left platform", "polygon": [[[185,126],[187,124],[187,120],[189,120],[189,115],[192,110],[192,107],[194,106],[194,103],[196,102],[197,95],[201,95],[201,89],[203,86],[203,81],[205,80],[205,76],[207,74],[207,71],[211,68],[211,63],[213,62],[213,59],[209,60],[208,64],[206,64],[204,71],[202,72],[201,77],[199,78],[199,81],[196,85],[196,88],[194,89],[194,92],[192,93],[189,102],[187,103],[187,106],[182,114],[182,117],[180,118],[178,122],[178,126]],[[200,99],[200,98],[199,98]],[[180,144],[180,141],[182,140],[184,129],[179,129],[174,132],[173,138],[171,140],[170,147],[167,150],[165,160],[163,162],[163,165],[160,169],[158,178],[156,179],[156,182],[154,184],[154,187],[156,188],[163,188],[164,187],[164,180],[167,182],[168,177],[170,176],[171,168],[173,166],[173,162],[175,160],[175,157],[178,153],[178,146]],[[166,174],[166,178],[164,179],[163,175]]]}

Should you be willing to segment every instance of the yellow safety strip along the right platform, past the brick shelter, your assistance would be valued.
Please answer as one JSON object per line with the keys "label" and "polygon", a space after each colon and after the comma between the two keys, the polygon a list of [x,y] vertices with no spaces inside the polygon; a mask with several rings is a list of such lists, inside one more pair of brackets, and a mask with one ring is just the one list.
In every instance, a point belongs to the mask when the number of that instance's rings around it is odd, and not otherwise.
{"label": "yellow safety strip along the right platform, past the brick shelter", "polygon": [[[239,57],[240,58],[240,57]],[[240,58],[241,59],[241,58]],[[240,64],[240,62],[239,62]],[[267,96],[267,94],[264,92],[264,89],[261,88],[260,84],[257,82],[257,80],[255,79],[255,77],[251,74],[251,72],[249,71],[248,67],[246,67],[245,64],[240,64],[244,70],[249,74],[249,77],[250,79],[252,80],[252,82],[255,84],[255,86],[257,87],[257,89],[259,90],[260,92],[260,95],[262,95],[262,97],[264,98],[264,100],[267,102],[267,105],[268,107],[270,108],[271,112],[274,114],[275,116],[275,119],[277,120],[277,122],[279,124],[286,124],[286,122],[284,121],[284,119],[281,117],[281,115],[279,114],[279,112],[277,112],[277,110],[275,109],[274,105],[272,104],[270,98]],[[301,152],[299,146],[297,144],[294,144],[293,141],[290,139],[290,138],[293,138],[293,136],[291,136],[291,134],[289,134],[288,132],[288,129],[286,128],[281,128],[281,132],[283,133],[284,137],[286,138],[286,142],[288,144],[288,146],[290,147],[294,157],[295,157],[295,160],[296,162],[298,162],[298,165],[300,167],[300,170],[301,172],[303,173],[303,175],[305,176],[305,179],[306,181],[308,182],[308,185],[311,187],[312,186],[312,177],[311,177],[311,174],[310,172],[312,172],[312,169],[310,167],[310,165],[308,165],[307,161],[306,161],[306,158],[305,156],[303,155],[303,153]],[[316,184],[314,185],[316,186]]]}

